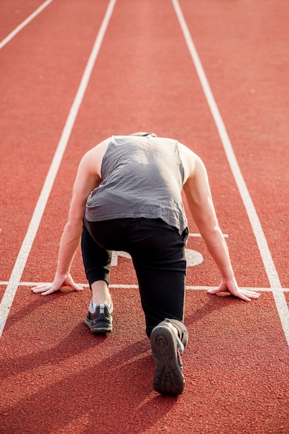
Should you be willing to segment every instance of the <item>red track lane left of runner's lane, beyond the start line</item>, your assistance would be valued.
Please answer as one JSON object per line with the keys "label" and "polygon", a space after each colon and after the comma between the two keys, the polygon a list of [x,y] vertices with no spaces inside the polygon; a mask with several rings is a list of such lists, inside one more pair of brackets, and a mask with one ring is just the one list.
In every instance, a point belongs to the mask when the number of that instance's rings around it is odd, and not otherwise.
{"label": "red track lane left of runner's lane, beyond the start line", "polygon": [[[69,5],[52,3],[21,32],[19,40],[0,52],[3,281],[9,279],[17,258],[107,6],[103,2],[75,15],[77,5]],[[17,198],[18,212],[11,198]]]}

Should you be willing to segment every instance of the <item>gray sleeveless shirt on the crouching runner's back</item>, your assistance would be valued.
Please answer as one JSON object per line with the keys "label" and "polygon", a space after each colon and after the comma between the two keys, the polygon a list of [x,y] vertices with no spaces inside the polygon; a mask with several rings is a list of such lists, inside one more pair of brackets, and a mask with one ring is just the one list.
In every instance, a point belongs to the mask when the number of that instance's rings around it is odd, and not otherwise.
{"label": "gray sleeveless shirt on the crouching runner's back", "polygon": [[183,179],[178,141],[113,136],[102,159],[102,182],[86,202],[86,219],[161,218],[182,233]]}

